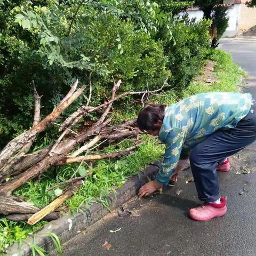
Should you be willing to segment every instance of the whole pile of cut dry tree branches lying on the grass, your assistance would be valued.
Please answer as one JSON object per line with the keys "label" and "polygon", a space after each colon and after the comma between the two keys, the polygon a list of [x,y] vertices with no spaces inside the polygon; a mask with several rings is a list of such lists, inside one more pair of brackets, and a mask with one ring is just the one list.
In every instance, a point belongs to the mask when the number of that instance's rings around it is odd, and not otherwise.
{"label": "whole pile of cut dry tree branches lying on the grass", "polygon": [[[155,91],[142,92],[125,92],[115,96],[116,91],[121,86],[121,80],[114,83],[111,96],[97,107],[89,106],[92,97],[92,85],[90,83],[90,95],[85,105],[77,109],[71,114],[61,125],[59,132],[62,132],[59,138],[55,140],[52,146],[30,153],[29,149],[39,133],[42,133],[55,124],[54,121],[60,117],[65,109],[73,103],[85,90],[83,85],[77,89],[78,81],[74,83],[68,94],[61,100],[59,105],[55,107],[49,115],[40,121],[41,97],[37,94],[34,85],[35,113],[33,127],[23,132],[18,137],[11,140],[0,152],[0,215],[4,215],[10,220],[28,220],[30,225],[34,225],[41,219],[52,220],[60,217],[60,205],[82,186],[82,179],[85,177],[76,177],[68,181],[60,183],[60,186],[66,185],[66,189],[62,195],[57,197],[50,205],[44,209],[39,209],[31,203],[22,201],[22,198],[12,196],[15,189],[31,179],[41,175],[50,169],[53,165],[65,165],[75,162],[91,162],[99,159],[108,159],[114,157],[122,157],[129,154],[136,148],[136,145],[112,154],[89,154],[90,149],[95,147],[97,143],[109,143],[120,139],[134,137],[137,138],[141,131],[136,126],[136,120],[130,120],[123,124],[113,126],[110,125],[111,118],[107,118],[114,101],[128,94],[143,94],[159,92],[163,86]],[[34,83],[33,83],[34,84]],[[83,132],[76,132],[73,127],[81,121],[81,119],[92,111],[101,110],[99,119],[92,123]],[[78,129],[79,130],[79,129]],[[77,146],[79,149],[77,149]],[[82,146],[83,145],[83,146]],[[87,173],[90,175],[90,172]],[[8,180],[8,181],[6,181]]]}

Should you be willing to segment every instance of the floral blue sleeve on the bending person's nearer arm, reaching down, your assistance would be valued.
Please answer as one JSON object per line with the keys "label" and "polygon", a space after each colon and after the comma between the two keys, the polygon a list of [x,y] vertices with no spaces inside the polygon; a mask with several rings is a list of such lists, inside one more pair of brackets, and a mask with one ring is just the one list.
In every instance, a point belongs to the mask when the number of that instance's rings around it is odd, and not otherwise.
{"label": "floral blue sleeve on the bending person's nearer arm, reaching down", "polygon": [[156,181],[167,186],[170,177],[175,172],[179,162],[180,153],[185,139],[185,133],[181,129],[172,129],[167,133],[165,143],[164,161],[156,175]]}

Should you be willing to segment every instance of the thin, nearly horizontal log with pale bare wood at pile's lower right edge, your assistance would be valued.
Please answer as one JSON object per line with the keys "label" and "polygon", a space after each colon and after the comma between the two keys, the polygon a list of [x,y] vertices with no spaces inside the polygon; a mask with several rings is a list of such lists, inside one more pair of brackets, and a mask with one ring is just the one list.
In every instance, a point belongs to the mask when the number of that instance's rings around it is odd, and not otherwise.
{"label": "thin, nearly horizontal log with pale bare wood at pile's lower right edge", "polygon": [[122,157],[129,154],[132,150],[134,150],[137,146],[132,146],[130,148],[126,148],[122,151],[106,154],[106,155],[87,155],[87,156],[78,156],[78,157],[69,157],[61,162],[58,162],[56,165],[63,165],[63,164],[71,164],[77,162],[86,162],[86,161],[95,161],[101,159],[110,159],[115,157]]}

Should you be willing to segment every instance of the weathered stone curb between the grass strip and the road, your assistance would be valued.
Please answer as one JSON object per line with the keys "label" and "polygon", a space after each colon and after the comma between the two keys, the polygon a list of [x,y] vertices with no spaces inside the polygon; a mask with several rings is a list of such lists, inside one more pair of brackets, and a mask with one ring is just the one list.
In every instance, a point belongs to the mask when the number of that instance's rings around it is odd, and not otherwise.
{"label": "weathered stone curb between the grass strip and the road", "polygon": [[[159,169],[159,162],[152,163],[145,168],[145,171],[135,175],[127,180],[124,186],[117,189],[116,194],[110,195],[110,209],[115,210],[120,205],[129,201],[132,197],[137,195],[138,189],[148,181],[148,179],[154,179]],[[7,255],[11,256],[27,256],[31,254],[31,248],[29,244],[36,244],[43,247],[46,251],[52,251],[55,249],[54,243],[51,237],[47,233],[56,234],[62,241],[67,242],[71,238],[75,237],[79,230],[85,230],[87,227],[92,226],[95,222],[102,219],[109,211],[101,204],[93,203],[90,211],[85,207],[82,207],[85,214],[77,213],[76,215],[70,212],[63,215],[58,220],[53,220],[47,223],[43,229],[39,230],[33,237],[29,237],[19,248],[18,243],[15,243],[10,247]]]}

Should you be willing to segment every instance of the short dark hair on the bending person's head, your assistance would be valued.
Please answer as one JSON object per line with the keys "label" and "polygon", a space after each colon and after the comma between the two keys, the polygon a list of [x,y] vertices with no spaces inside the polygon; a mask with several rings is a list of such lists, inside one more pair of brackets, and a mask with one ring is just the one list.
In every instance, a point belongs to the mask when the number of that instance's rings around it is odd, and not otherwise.
{"label": "short dark hair on the bending person's head", "polygon": [[163,121],[165,105],[149,104],[142,108],[137,118],[137,124],[141,131],[156,130],[154,124]]}

